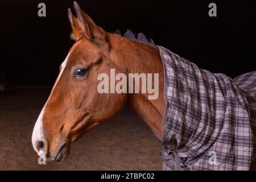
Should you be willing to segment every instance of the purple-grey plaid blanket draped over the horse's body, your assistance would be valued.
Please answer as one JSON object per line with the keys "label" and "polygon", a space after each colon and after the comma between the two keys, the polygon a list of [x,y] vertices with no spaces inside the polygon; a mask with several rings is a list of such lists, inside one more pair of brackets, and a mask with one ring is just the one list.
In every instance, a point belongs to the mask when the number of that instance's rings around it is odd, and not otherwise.
{"label": "purple-grey plaid blanket draped over the horse's body", "polygon": [[256,71],[232,78],[159,47],[164,170],[249,170],[255,162]]}

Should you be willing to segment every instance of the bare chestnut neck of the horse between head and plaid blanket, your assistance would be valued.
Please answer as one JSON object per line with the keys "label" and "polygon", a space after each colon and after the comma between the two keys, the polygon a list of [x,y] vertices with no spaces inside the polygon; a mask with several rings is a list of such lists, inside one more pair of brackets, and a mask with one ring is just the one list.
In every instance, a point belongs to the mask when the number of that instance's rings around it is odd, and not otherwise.
{"label": "bare chestnut neck of the horse between head and plaid blanket", "polygon": [[118,35],[112,36],[110,44],[123,73],[152,73],[152,77],[154,73],[159,73],[159,97],[156,100],[148,100],[148,93],[129,93],[127,106],[134,110],[155,134],[162,137],[166,104],[163,98],[164,73],[159,49]]}

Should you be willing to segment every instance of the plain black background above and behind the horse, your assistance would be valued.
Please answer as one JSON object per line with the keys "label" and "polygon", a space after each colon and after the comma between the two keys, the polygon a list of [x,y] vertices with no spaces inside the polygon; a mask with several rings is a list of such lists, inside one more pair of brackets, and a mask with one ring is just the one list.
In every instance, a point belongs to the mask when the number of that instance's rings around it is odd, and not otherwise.
{"label": "plain black background above and behind the horse", "polygon": [[[38,4],[46,3],[46,17]],[[210,2],[217,17],[208,16]],[[10,86],[52,85],[73,41],[73,1],[1,1],[0,72]],[[253,1],[78,1],[99,26],[143,32],[203,69],[236,77],[256,68]],[[74,11],[73,11],[74,12]]]}

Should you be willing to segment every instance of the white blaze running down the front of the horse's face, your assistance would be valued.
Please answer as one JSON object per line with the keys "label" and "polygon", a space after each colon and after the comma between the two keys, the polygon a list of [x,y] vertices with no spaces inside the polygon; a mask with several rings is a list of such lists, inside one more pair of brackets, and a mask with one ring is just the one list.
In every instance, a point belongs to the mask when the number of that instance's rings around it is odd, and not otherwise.
{"label": "white blaze running down the front of the horse's face", "polygon": [[[45,140],[44,138],[44,134],[43,134],[43,117],[44,117],[44,109],[49,101],[49,99],[51,98],[52,96],[52,93],[53,93],[53,90],[57,84],[57,82],[59,81],[66,65],[67,65],[67,61],[68,61],[68,57],[69,57],[69,53],[68,53],[68,56],[66,57],[66,59],[63,61],[63,63],[61,64],[61,70],[60,70],[60,73],[59,73],[59,76],[57,77],[57,80],[55,82],[55,84],[53,85],[53,88],[52,88],[52,91],[51,91],[51,94],[49,95],[48,97],[48,100],[46,101],[46,104],[44,105],[41,113],[39,114],[39,117],[38,117],[38,120],[36,120],[36,123],[35,123],[35,126],[34,126],[34,130],[33,130],[33,133],[32,133],[32,145],[33,145],[33,148],[36,152],[38,152],[38,155],[40,156],[42,154],[43,151],[38,151],[36,149],[36,141],[38,140]],[[45,141],[47,142],[47,141]]]}

